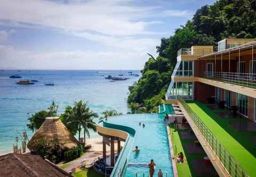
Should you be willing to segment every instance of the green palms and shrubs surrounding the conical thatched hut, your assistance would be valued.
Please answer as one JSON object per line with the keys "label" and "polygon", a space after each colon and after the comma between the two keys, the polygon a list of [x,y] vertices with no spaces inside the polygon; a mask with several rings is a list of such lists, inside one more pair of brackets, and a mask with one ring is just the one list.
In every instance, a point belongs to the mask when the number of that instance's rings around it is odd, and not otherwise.
{"label": "green palms and shrubs surrounding the conical thatched hut", "polygon": [[[28,118],[29,124],[27,127],[31,131],[37,131],[43,124],[46,117],[54,117],[57,115],[58,106],[52,102],[51,106],[46,110],[36,112],[34,115]],[[66,162],[80,157],[85,147],[85,135],[90,137],[90,131],[96,131],[96,123],[94,118],[97,118],[98,114],[91,111],[87,106],[87,102],[82,100],[75,102],[74,106],[67,106],[65,111],[60,115],[60,120],[66,125],[68,130],[76,135],[78,132],[78,140],[80,140],[81,131],[83,130],[84,141],[80,142],[78,147],[71,148],[65,152],[60,151],[57,143],[50,143],[47,139],[38,140],[38,150],[33,152],[36,155],[41,155],[50,159],[54,163],[65,160]]]}

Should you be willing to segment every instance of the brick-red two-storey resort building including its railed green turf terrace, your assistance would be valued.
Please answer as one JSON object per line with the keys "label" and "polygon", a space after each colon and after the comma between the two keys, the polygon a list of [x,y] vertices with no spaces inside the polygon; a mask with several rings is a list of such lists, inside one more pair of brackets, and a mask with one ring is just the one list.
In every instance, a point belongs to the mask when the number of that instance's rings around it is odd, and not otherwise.
{"label": "brick-red two-storey resort building including its railed green turf terrace", "polygon": [[179,107],[219,176],[256,176],[255,39],[178,51],[166,103]]}

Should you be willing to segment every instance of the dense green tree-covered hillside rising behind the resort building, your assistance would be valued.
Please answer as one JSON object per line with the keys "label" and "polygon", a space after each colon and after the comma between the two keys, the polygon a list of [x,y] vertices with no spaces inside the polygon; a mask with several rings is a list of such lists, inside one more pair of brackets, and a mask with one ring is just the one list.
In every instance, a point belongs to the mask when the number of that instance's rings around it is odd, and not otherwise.
{"label": "dense green tree-covered hillside rising behind the resort building", "polygon": [[142,77],[129,87],[127,102],[142,104],[146,112],[156,112],[171,81],[177,51],[192,45],[217,45],[223,38],[255,38],[255,12],[255,0],[220,0],[202,6],[173,36],[161,39],[156,46],[158,57],[150,57],[145,63]]}

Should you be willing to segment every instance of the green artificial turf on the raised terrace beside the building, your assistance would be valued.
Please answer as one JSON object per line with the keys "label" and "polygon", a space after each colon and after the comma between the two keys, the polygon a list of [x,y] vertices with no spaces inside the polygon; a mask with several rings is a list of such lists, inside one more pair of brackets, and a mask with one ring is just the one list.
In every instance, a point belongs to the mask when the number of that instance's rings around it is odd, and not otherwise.
{"label": "green artificial turf on the raised terrace beside the building", "polygon": [[187,101],[187,103],[246,173],[256,176],[256,146],[247,139],[248,136],[256,136],[256,132],[238,132],[230,125],[234,119],[222,119],[199,101]]}

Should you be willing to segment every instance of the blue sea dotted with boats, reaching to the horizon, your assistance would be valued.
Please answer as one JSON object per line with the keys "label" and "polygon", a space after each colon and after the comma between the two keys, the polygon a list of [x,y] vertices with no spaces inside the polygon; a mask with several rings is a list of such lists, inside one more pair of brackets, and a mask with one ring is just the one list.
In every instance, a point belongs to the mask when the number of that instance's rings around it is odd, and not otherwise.
{"label": "blue sea dotted with boats, reaching to the horizon", "polygon": [[[130,71],[130,70],[129,70]],[[128,87],[139,77],[129,76],[128,70],[4,70],[0,71],[0,154],[12,151],[15,136],[27,129],[28,117],[40,110],[46,110],[54,101],[58,114],[75,101],[87,101],[91,110],[99,115],[102,111],[114,109],[125,114]],[[132,70],[139,74],[139,70]],[[9,78],[18,74],[22,78]],[[103,75],[129,77],[126,81],[110,82]],[[34,85],[18,85],[23,79],[36,79]],[[52,82],[54,86],[46,86]],[[97,133],[91,133],[91,139]],[[21,142],[18,142],[21,144]]]}

